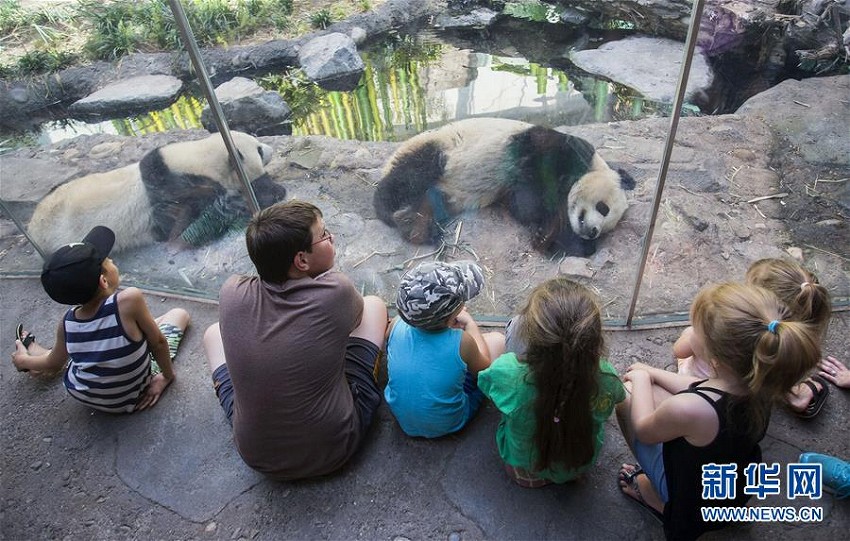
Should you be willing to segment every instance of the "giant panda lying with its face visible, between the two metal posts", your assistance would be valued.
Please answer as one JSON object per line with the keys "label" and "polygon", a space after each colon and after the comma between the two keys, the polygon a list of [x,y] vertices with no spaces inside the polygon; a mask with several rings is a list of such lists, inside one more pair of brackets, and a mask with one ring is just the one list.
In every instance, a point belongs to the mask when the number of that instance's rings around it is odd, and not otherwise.
{"label": "giant panda lying with its face visible, between the two metal posts", "polygon": [[634,179],[572,135],[502,118],[470,118],[423,132],[396,150],[375,212],[415,244],[440,240],[459,214],[503,204],[548,253],[589,256],[628,207]]}

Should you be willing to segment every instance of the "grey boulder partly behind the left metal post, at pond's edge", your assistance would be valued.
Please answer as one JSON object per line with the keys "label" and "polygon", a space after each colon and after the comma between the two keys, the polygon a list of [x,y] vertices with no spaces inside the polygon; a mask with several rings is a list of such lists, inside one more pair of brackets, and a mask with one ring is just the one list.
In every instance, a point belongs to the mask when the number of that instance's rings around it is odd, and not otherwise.
{"label": "grey boulder partly behind the left metal post, at pond's edge", "polygon": [[[216,87],[215,95],[232,130],[256,136],[292,133],[292,109],[277,92],[263,90],[250,79],[234,77]],[[201,112],[201,124],[207,131],[218,131],[209,105]]]}

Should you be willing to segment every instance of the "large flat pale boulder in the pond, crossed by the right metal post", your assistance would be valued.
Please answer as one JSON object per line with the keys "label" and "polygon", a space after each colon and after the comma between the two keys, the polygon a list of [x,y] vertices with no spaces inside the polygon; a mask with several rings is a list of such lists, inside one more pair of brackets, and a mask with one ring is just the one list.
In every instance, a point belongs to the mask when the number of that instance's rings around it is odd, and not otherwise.
{"label": "large flat pale boulder in the pond, crossed by the right metal post", "polygon": [[[608,42],[598,49],[573,51],[570,60],[588,73],[634,89],[649,100],[672,102],[685,45],[680,41],[632,36]],[[697,49],[688,75],[686,101],[700,95],[714,80],[714,72]]]}

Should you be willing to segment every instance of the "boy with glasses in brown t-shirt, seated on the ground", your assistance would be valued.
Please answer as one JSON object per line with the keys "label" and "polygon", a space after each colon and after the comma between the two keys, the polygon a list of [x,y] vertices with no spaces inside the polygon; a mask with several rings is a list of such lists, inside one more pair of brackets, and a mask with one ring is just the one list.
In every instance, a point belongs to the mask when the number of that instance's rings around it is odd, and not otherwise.
{"label": "boy with glasses in brown t-shirt, seated on the ground", "polygon": [[260,211],[245,238],[259,276],[224,283],[204,334],[216,395],[246,464],[281,480],[330,473],[380,404],[386,306],[330,270],[333,235],[310,203]]}

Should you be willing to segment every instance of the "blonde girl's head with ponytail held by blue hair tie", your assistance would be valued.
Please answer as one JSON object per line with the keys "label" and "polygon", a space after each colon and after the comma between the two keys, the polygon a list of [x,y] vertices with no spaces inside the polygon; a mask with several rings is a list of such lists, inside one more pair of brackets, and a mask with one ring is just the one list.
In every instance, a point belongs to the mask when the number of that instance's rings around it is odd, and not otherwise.
{"label": "blonde girl's head with ponytail held by blue hair tie", "polygon": [[[691,306],[694,329],[706,355],[745,385],[748,398],[767,404],[787,392],[820,360],[820,336],[812,324],[794,321],[765,288],[740,283],[703,288]],[[755,411],[766,426],[767,412]]]}

